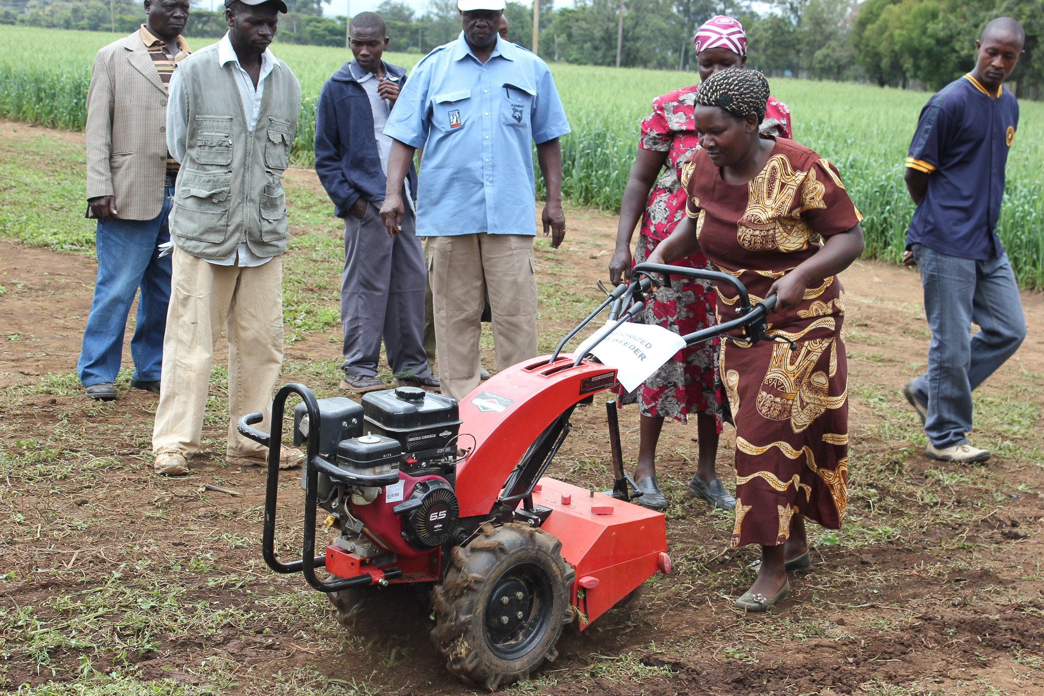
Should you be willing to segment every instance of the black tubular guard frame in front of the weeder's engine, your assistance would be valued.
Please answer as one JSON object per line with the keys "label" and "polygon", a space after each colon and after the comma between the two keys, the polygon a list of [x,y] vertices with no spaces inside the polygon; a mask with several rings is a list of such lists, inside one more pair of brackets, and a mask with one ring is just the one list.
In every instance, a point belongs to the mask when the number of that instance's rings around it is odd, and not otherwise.
{"label": "black tubular guard frame in front of the weeder's engine", "polygon": [[[286,400],[290,394],[298,394],[308,410],[308,436],[306,440],[305,458],[305,529],[302,539],[301,559],[292,560],[288,563],[281,562],[276,557],[276,498],[279,494],[279,456],[283,442],[283,414],[286,409]],[[318,507],[318,476],[319,471],[333,479],[341,479],[345,472],[319,456],[319,406],[315,401],[315,394],[304,384],[290,382],[284,384],[276,392],[276,398],[271,402],[271,424],[275,426],[270,434],[266,434],[252,428],[261,423],[261,413],[247,413],[239,418],[237,430],[244,437],[268,448],[268,480],[265,483],[264,496],[264,527],[261,537],[261,553],[264,556],[265,565],[277,573],[284,575],[290,573],[302,573],[305,580],[319,592],[339,592],[349,587],[373,584],[376,580],[374,576],[365,573],[343,580],[334,582],[324,582],[315,575],[316,568],[326,567],[326,554],[315,555],[315,509]],[[305,562],[308,558],[310,562]],[[389,568],[383,571],[383,579],[390,580],[402,575],[398,568]]]}

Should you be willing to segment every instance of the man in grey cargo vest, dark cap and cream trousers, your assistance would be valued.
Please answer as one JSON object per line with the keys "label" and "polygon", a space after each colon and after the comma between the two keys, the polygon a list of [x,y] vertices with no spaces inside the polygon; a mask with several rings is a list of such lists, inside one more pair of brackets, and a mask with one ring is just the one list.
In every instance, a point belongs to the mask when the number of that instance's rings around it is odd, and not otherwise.
{"label": "man in grey cargo vest, dark cap and cream trousers", "polygon": [[[153,470],[188,473],[199,449],[214,339],[229,340],[230,463],[261,465],[267,451],[236,432],[270,421],[283,364],[282,254],[289,237],[283,171],[301,87],[268,45],[283,0],[226,0],[229,32],[182,61],[170,82],[167,146],[182,168],[170,214],[173,278],[163,344]],[[264,426],[262,426],[264,427]],[[281,466],[304,459],[284,449]]]}

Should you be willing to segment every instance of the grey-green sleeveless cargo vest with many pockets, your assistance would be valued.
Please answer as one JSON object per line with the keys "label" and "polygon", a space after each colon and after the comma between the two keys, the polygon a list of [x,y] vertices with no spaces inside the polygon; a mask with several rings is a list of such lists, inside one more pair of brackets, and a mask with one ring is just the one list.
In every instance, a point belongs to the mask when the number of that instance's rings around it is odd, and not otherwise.
{"label": "grey-green sleeveless cargo vest with many pockets", "polygon": [[217,44],[188,56],[177,70],[189,110],[185,161],[170,213],[177,247],[217,260],[245,240],[259,257],[282,254],[289,237],[283,171],[298,127],[298,78],[275,59],[252,133],[233,66],[218,63]]}

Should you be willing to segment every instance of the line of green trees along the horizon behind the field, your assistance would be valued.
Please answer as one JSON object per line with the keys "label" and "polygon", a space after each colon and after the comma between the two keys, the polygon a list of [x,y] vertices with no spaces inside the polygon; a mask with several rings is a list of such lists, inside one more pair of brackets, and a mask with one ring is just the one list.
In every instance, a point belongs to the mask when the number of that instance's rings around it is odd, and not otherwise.
{"label": "line of green trees along the horizon behind the field", "polygon": [[[773,76],[868,81],[935,90],[974,66],[974,43],[991,19],[1026,29],[1026,54],[1012,75],[1019,97],[1044,96],[1044,0],[576,0],[555,9],[540,0],[538,51],[548,62],[612,66],[623,7],[620,65],[692,70],[692,35],[714,15],[746,28],[748,67]],[[0,0],[0,23],[65,29],[134,30],[139,0]],[[196,0],[187,33],[219,37],[226,25],[210,0]],[[214,0],[221,6],[222,0]],[[288,0],[277,41],[343,46],[347,18],[323,17],[324,0]],[[418,14],[400,0],[378,7],[390,50],[426,53],[460,31],[456,0],[429,0]],[[532,6],[508,2],[512,40],[532,43]]]}

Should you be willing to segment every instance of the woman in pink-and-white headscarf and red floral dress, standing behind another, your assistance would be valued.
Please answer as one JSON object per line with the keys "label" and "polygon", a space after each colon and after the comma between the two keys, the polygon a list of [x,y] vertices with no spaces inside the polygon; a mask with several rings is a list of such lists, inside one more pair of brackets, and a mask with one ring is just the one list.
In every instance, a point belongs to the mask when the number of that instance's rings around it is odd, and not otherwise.
{"label": "woman in pink-and-white headscarf and red floral dress, standing behind another", "polygon": [[[699,80],[718,70],[742,69],[746,65],[746,33],[743,26],[718,15],[699,27],[693,39]],[[616,232],[616,253],[609,265],[614,284],[633,264],[648,258],[657,245],[670,236],[685,218],[686,196],[681,184],[682,165],[699,147],[694,122],[698,85],[682,88],[652,100],[652,113],[641,123],[638,154],[631,169],[620,206]],[[765,135],[791,138],[790,112],[769,97],[768,110],[761,125]],[[631,238],[641,218],[641,231],[631,256]],[[703,254],[678,263],[681,266],[709,268]],[[711,283],[675,280],[672,288],[661,288],[656,302],[645,311],[645,323],[658,323],[680,334],[714,326],[714,286]],[[621,404],[638,403],[641,411],[640,443],[635,481],[644,494],[636,502],[663,509],[667,499],[656,480],[656,448],[666,417],[687,423],[696,414],[699,464],[689,482],[689,491],[715,507],[731,510],[736,500],[725,489],[715,472],[718,434],[723,415],[717,376],[718,344],[704,343],[680,351],[634,392],[624,394]]]}

